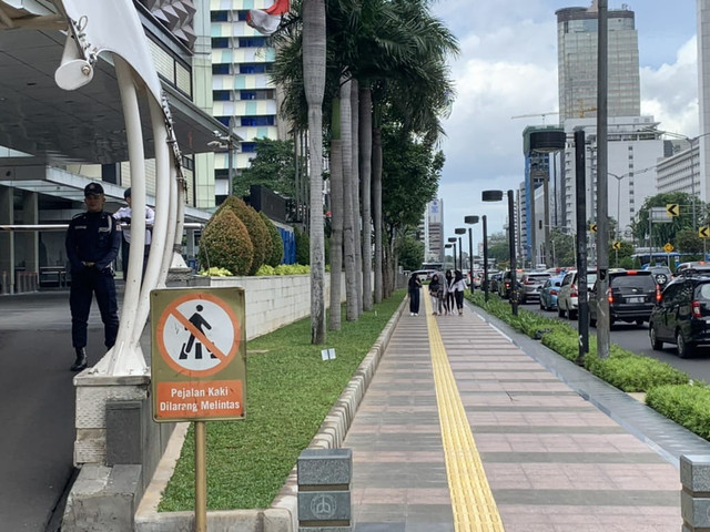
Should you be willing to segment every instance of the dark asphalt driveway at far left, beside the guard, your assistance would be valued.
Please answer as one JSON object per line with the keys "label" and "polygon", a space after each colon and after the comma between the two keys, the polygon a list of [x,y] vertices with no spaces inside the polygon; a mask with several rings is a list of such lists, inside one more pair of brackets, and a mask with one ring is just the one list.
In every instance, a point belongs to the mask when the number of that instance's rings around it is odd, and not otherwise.
{"label": "dark asphalt driveway at far left, beside the guard", "polygon": [[[0,316],[0,530],[54,532],[74,473],[69,291],[2,296]],[[87,351],[105,352],[95,301]]]}

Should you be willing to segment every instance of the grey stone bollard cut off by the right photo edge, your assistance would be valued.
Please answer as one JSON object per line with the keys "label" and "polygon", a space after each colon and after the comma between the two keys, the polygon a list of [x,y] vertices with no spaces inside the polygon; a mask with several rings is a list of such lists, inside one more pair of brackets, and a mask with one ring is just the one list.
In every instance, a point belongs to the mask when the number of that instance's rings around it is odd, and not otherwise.
{"label": "grey stone bollard cut off by the right photo edge", "polygon": [[680,457],[682,532],[710,532],[710,456]]}

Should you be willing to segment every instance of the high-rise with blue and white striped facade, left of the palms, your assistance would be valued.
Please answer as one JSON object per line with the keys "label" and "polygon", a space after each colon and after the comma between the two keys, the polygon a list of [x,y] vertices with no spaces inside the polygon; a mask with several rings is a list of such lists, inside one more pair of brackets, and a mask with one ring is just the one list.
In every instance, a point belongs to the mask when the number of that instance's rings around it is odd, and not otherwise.
{"label": "high-rise with blue and white striped facade, left of the palms", "polygon": [[250,9],[268,7],[271,0],[213,2],[212,90],[213,114],[243,141],[239,153],[217,153],[214,161],[215,196],[222,203],[229,191],[230,163],[234,175],[248,167],[255,139],[278,139],[276,89],[268,72],[276,59],[266,38],[246,24]]}

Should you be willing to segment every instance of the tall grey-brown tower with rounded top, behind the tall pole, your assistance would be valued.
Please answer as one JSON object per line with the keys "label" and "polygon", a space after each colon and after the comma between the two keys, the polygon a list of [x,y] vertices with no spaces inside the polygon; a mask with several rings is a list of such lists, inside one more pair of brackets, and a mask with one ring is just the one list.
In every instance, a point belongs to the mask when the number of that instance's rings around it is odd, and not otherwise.
{"label": "tall grey-brown tower with rounded top, behind the tall pole", "polygon": [[[590,8],[565,8],[557,14],[557,66],[559,116],[568,119],[596,116],[597,48],[599,12],[597,2]],[[608,11],[608,105],[609,116],[641,114],[639,47],[633,11]]]}

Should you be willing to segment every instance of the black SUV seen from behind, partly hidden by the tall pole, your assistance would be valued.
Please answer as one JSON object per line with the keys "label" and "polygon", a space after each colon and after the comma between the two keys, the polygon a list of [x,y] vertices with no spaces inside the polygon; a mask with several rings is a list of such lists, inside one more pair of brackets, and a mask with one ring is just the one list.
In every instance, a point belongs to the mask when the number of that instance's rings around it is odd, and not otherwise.
{"label": "black SUV seen from behind, partly hidden by the tall pole", "polygon": [[[589,324],[597,325],[597,293],[599,279],[589,294]],[[653,274],[645,269],[610,269],[609,288],[609,325],[615,321],[627,321],[643,325],[648,321],[660,289]]]}

